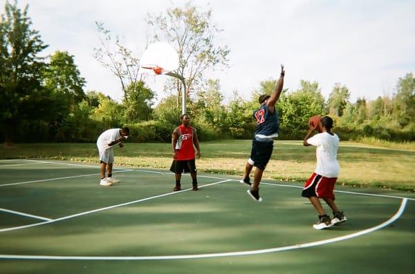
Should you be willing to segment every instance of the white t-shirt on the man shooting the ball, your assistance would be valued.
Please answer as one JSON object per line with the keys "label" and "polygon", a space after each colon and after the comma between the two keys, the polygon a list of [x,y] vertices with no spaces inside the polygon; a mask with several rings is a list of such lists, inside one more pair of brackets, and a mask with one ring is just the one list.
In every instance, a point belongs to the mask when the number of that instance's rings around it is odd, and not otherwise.
{"label": "white t-shirt on the man shooting the ball", "polygon": [[339,148],[338,135],[329,133],[318,133],[307,139],[307,143],[317,146],[315,155],[317,157],[317,166],[315,173],[324,177],[338,177],[340,166],[337,160],[337,151]]}

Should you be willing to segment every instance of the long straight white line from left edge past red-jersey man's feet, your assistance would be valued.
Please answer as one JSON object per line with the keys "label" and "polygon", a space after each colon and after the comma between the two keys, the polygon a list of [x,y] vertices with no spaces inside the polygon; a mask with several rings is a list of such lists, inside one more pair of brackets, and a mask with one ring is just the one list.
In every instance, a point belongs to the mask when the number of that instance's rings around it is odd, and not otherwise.
{"label": "long straight white line from left edge past red-jersey man's feet", "polygon": [[[199,188],[204,188],[206,186],[213,186],[215,184],[221,184],[221,183],[229,182],[229,181],[230,181],[230,179],[225,179],[225,180],[220,181],[220,182],[214,182],[214,183],[211,183],[211,184],[205,184],[203,186],[199,186]],[[144,198],[144,199],[138,199],[136,201],[126,202],[126,203],[122,203],[122,204],[116,204],[116,205],[113,205],[113,206],[106,206],[104,208],[94,209],[93,211],[85,211],[85,212],[82,212],[82,213],[68,215],[68,216],[65,216],[65,217],[57,218],[57,219],[50,219],[47,222],[40,222],[40,223],[36,223],[36,224],[28,224],[26,226],[15,226],[15,227],[11,227],[11,228],[3,228],[3,229],[0,229],[0,232],[16,231],[16,230],[19,230],[19,229],[22,229],[22,228],[30,228],[30,227],[33,227],[33,226],[41,226],[43,224],[50,224],[50,223],[54,223],[54,222],[63,221],[64,219],[71,219],[71,218],[74,218],[74,217],[79,217],[79,216],[82,216],[82,215],[91,214],[91,213],[95,213],[95,212],[99,212],[99,211],[106,211],[106,210],[109,210],[109,209],[112,209],[112,208],[117,208],[117,207],[120,207],[120,206],[127,206],[129,204],[136,204],[136,203],[140,203],[140,202],[145,202],[145,201],[148,201],[150,199],[156,199],[156,198],[160,198],[160,197],[174,195],[176,193],[182,193],[182,192],[189,191],[189,190],[192,190],[192,188],[187,188],[187,189],[181,190],[181,191],[174,191],[174,192],[170,192],[170,193],[156,195],[156,196],[148,197],[148,198]]]}

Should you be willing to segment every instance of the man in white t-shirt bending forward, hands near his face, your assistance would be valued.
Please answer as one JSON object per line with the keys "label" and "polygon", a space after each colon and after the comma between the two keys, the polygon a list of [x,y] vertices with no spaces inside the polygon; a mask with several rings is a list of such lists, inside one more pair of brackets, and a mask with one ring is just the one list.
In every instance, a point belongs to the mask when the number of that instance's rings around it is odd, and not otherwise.
{"label": "man in white t-shirt bending forward, hands near his face", "polygon": [[[101,133],[97,140],[98,152],[100,153],[101,164],[101,186],[111,186],[118,183],[118,180],[112,177],[112,167],[114,162],[113,146],[118,144],[122,148],[121,141],[127,139],[129,128],[111,128]],[[108,177],[105,177],[107,168]]]}

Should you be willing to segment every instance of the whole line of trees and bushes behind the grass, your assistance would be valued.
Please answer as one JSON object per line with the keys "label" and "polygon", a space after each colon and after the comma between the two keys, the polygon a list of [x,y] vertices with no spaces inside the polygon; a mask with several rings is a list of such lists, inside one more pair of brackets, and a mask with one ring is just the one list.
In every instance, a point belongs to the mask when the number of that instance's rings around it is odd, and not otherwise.
{"label": "whole line of trees and bushes behind the grass", "polygon": [[[210,14],[187,3],[184,8],[149,16],[147,23],[154,29],[154,40],[180,42],[178,73],[187,81],[187,110],[200,139],[250,139],[257,99],[270,94],[277,79],[259,83],[248,100],[234,91],[224,104],[219,79],[205,77],[210,68],[228,67],[229,49],[215,45],[214,35],[221,30],[212,24]],[[165,86],[168,96],[154,106],[156,92],[140,75],[139,60],[97,22],[101,44],[94,49],[94,57],[120,80],[124,96],[118,102],[100,91],[85,92],[86,80],[73,55],[57,51],[42,57],[48,45],[31,25],[28,6],[21,10],[17,2],[6,2],[0,21],[1,141],[92,142],[103,130],[122,126],[129,126],[132,141],[169,141],[181,115],[180,81],[170,79]],[[175,26],[174,32],[167,26]],[[111,43],[116,50],[111,51]],[[331,115],[342,139],[414,141],[415,78],[408,73],[397,79],[396,92],[390,97],[356,102],[350,101],[343,84],[335,84],[324,98],[318,82],[301,80],[297,90],[284,90],[277,110],[283,139],[304,137],[309,117]]]}

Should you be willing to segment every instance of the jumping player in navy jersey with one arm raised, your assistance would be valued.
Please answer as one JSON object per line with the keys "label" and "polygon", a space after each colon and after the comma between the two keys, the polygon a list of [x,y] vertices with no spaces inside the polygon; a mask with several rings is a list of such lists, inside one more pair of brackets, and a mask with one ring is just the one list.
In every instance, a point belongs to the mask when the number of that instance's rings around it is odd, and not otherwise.
{"label": "jumping player in navy jersey with one arm raised", "polygon": [[259,97],[261,106],[253,114],[253,117],[257,120],[257,130],[252,140],[251,154],[245,165],[243,179],[239,182],[251,186],[249,175],[252,167],[255,166],[254,184],[247,192],[257,202],[262,201],[262,198],[259,197],[259,182],[261,182],[262,173],[264,173],[266,165],[273,154],[273,138],[278,137],[279,120],[275,103],[279,99],[279,95],[281,95],[282,86],[284,86],[284,75],[284,66],[281,66],[281,74],[273,94],[261,95]]}

